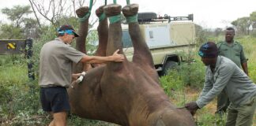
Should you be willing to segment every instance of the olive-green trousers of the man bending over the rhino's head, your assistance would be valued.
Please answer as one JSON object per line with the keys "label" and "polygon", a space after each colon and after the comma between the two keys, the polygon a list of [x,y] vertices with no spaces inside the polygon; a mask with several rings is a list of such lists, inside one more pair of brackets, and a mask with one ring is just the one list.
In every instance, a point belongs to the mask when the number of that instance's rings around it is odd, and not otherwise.
{"label": "olive-green trousers of the man bending over the rhino's head", "polygon": [[228,106],[226,126],[251,126],[256,108],[256,96],[242,106]]}

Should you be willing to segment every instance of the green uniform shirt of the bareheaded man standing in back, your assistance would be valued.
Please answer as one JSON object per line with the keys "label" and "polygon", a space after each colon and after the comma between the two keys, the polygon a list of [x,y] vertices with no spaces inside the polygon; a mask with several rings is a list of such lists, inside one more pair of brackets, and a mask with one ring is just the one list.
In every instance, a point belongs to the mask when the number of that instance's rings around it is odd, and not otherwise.
{"label": "green uniform shirt of the bareheaded man standing in back", "polygon": [[247,61],[243,52],[243,46],[240,43],[234,42],[229,45],[227,42],[220,42],[216,45],[218,47],[219,55],[228,57],[234,61],[235,65],[238,65],[239,68],[241,68],[241,63]]}

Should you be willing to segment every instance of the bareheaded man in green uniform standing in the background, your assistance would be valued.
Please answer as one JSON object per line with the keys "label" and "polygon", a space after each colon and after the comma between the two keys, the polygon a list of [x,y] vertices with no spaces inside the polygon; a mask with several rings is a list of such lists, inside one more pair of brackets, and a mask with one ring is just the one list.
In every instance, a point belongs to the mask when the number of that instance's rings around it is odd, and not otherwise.
{"label": "bareheaded man in green uniform standing in the background", "polygon": [[[218,53],[221,56],[231,59],[235,62],[235,65],[239,66],[239,68],[242,66],[243,72],[248,75],[247,58],[244,55],[243,46],[240,43],[235,42],[234,36],[235,29],[227,28],[225,32],[225,41],[217,43]],[[225,113],[229,103],[228,96],[224,92],[221,92],[217,97],[216,113]]]}

